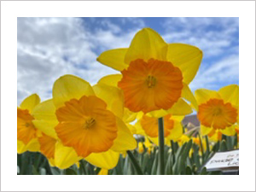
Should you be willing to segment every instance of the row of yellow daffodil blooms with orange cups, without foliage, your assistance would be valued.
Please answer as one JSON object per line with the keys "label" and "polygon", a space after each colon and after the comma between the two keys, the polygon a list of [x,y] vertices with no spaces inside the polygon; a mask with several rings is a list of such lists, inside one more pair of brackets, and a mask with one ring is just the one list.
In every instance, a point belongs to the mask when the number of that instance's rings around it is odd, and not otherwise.
{"label": "row of yellow daffodil blooms with orange cups, without foliage", "polygon": [[[103,52],[97,61],[118,70],[91,86],[64,75],[55,81],[52,99],[28,96],[17,108],[17,151],[40,152],[50,166],[66,169],[86,160],[112,169],[119,154],[137,148],[134,134],[158,145],[158,119],[164,119],[165,143],[181,141],[183,117],[193,110],[201,135],[217,141],[239,130],[238,85],[220,90],[189,89],[202,51],[189,44],[166,44],[157,32],[137,32],[128,49]],[[134,124],[134,122],[136,122]],[[149,142],[150,141],[150,142]],[[139,144],[140,147],[141,144]]]}

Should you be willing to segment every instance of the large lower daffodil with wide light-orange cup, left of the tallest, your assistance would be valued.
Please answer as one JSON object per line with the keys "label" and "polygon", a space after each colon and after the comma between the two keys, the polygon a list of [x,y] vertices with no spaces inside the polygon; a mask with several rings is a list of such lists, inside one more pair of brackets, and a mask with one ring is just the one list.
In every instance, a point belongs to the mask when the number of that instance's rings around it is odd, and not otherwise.
{"label": "large lower daffodil with wide light-orange cup, left of the tallest", "polygon": [[91,87],[83,79],[65,75],[55,81],[51,102],[41,103],[35,125],[58,141],[55,158],[65,158],[68,154],[61,154],[61,150],[72,148],[72,163],[85,158],[92,165],[111,169],[119,152],[137,146],[122,120],[122,96],[117,88],[103,84]]}

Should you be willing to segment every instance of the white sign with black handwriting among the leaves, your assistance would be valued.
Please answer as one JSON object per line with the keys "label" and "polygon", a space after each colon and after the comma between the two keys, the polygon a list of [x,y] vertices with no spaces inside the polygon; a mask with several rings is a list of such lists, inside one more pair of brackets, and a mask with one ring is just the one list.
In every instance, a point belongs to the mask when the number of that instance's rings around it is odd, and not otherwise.
{"label": "white sign with black handwriting among the leaves", "polygon": [[232,150],[227,152],[218,152],[208,160],[207,171],[226,169],[226,168],[238,168],[239,167],[239,150]]}

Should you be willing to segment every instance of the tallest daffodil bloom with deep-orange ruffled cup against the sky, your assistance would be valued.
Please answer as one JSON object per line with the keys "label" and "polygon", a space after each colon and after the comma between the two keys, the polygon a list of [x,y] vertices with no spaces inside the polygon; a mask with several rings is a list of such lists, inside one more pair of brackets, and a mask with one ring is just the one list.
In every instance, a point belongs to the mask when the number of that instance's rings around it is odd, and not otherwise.
{"label": "tallest daffodil bloom with deep-orange ruffled cup against the sky", "polygon": [[[188,84],[200,67],[202,52],[189,44],[166,44],[157,32],[144,28],[137,32],[128,49],[111,49],[97,58],[122,73],[102,82],[116,84],[124,91],[125,107],[131,112],[155,112],[164,116],[176,107],[185,115],[195,98]],[[189,111],[191,113],[191,111]]]}

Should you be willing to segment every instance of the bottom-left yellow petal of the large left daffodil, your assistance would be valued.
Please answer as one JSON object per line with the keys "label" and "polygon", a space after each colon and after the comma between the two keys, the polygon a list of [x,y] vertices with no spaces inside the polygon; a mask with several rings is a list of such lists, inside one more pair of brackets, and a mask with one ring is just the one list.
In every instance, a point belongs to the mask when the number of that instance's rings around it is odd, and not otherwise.
{"label": "bottom-left yellow petal of the large left daffodil", "polygon": [[60,169],[67,169],[69,166],[77,163],[81,158],[73,148],[68,148],[57,142],[55,145],[55,166]]}

